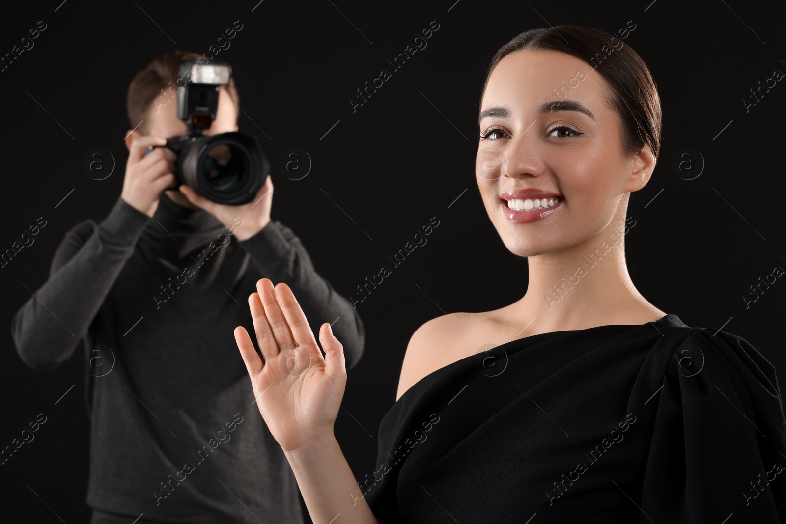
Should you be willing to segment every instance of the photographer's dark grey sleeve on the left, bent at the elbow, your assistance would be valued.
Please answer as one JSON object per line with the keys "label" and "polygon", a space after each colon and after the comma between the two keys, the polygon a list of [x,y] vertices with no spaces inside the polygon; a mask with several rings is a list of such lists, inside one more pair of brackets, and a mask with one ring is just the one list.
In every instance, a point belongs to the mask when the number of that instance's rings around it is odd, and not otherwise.
{"label": "photographer's dark grey sleeve on the left, bent at the elbow", "polygon": [[26,365],[45,371],[71,357],[149,220],[119,198],[100,225],[88,219],[66,233],[49,280],[32,291],[11,322]]}

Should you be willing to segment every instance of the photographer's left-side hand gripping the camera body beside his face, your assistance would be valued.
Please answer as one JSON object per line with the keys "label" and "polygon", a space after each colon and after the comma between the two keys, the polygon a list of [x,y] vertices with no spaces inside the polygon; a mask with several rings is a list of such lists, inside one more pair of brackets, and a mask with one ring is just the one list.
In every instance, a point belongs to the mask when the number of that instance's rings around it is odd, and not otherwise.
{"label": "photographer's left-side hand gripping the camera body beside his face", "polygon": [[155,148],[145,156],[145,149],[166,143],[160,137],[139,135],[133,138],[128,151],[120,198],[150,216],[156,212],[163,192],[175,183],[174,161],[177,156],[167,148]]}

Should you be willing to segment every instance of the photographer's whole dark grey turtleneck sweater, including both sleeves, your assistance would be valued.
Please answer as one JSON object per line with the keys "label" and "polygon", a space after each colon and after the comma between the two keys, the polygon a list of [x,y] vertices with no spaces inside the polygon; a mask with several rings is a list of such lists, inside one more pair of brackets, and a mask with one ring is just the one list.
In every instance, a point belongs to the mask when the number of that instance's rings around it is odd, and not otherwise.
{"label": "photographer's whole dark grey turtleneck sweater, including both sleeves", "polygon": [[35,369],[60,365],[85,339],[93,508],[160,522],[303,522],[233,329],[253,336],[248,295],[263,277],[292,288],[314,333],[335,321],[347,368],[362,354],[362,321],[281,222],[246,240],[229,232],[166,195],[152,219],[118,199],[101,224],[68,232],[50,279],[13,318]]}

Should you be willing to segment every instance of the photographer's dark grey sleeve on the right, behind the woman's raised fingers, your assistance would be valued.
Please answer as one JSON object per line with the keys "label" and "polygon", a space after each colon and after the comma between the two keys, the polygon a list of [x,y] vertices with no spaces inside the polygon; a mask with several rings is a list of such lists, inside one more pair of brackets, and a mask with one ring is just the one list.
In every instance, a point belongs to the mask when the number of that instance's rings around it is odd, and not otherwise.
{"label": "photographer's dark grey sleeve on the right, behind the woman's raised fingers", "polygon": [[270,221],[259,233],[240,243],[263,277],[274,284],[284,282],[292,288],[314,338],[318,339],[321,324],[332,324],[333,333],[343,345],[347,369],[353,368],[360,360],[365,343],[360,315],[349,300],[317,273],[306,248],[292,229],[277,220]]}

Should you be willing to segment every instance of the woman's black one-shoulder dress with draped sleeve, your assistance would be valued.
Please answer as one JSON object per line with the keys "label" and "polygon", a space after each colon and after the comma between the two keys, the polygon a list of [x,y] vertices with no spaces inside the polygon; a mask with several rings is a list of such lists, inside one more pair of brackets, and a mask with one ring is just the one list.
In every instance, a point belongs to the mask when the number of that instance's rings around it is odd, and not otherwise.
{"label": "woman's black one-shoulder dress with draped sleeve", "polygon": [[359,484],[385,524],[786,519],[773,365],[674,314],[465,357],[407,390],[379,434]]}

